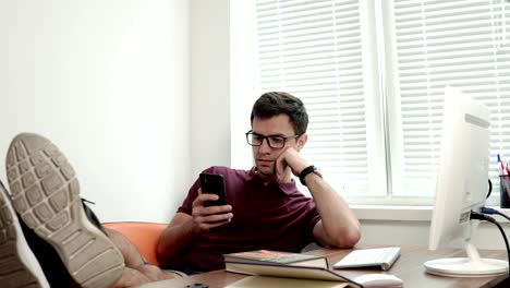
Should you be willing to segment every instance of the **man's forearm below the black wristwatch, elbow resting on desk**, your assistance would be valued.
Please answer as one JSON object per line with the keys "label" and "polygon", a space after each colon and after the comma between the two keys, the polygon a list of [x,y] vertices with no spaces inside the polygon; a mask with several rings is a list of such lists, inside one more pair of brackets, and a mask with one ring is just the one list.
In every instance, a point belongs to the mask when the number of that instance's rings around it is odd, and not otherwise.
{"label": "man's forearm below the black wristwatch, elbow resting on desk", "polygon": [[360,221],[347,202],[316,173],[306,176],[305,181],[320,215],[320,240],[339,248],[354,245],[361,237]]}

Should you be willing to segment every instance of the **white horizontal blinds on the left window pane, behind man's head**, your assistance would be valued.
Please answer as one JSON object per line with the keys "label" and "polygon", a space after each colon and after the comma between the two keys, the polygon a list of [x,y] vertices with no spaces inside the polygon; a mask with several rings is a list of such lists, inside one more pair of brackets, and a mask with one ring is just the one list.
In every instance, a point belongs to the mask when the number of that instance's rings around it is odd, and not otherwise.
{"label": "white horizontal blinds on the left window pane, behind man's head", "polygon": [[357,1],[259,0],[256,23],[262,92],[300,97],[311,120],[305,157],[349,193],[367,193]]}

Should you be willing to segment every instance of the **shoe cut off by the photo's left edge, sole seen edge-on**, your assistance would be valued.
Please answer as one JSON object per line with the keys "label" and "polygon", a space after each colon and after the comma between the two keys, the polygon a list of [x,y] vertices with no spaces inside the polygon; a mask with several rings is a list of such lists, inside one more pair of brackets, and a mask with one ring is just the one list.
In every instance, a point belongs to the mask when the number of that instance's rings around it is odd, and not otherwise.
{"label": "shoe cut off by the photo's left edge, sole seen edge-on", "polygon": [[0,182],[0,283],[2,287],[50,287],[28,247],[11,197]]}

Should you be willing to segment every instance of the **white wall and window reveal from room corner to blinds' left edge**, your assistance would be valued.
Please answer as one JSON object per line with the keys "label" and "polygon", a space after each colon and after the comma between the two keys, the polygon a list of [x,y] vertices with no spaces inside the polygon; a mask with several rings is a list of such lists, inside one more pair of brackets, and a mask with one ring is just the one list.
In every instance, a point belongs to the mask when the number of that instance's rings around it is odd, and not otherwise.
{"label": "white wall and window reveal from room corner to blinds' left edge", "polygon": [[209,166],[250,168],[244,133],[253,85],[253,0],[191,1],[192,177]]}

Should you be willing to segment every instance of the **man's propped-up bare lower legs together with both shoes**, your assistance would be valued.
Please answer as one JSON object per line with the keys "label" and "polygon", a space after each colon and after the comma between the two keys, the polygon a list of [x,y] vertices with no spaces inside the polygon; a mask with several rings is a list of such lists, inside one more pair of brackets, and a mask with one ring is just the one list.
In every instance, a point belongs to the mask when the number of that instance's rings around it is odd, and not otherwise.
{"label": "man's propped-up bare lower legs together with both shoes", "polygon": [[47,139],[14,137],[5,168],[13,195],[0,182],[1,287],[130,287],[178,276],[101,227],[80,199],[73,168]]}

